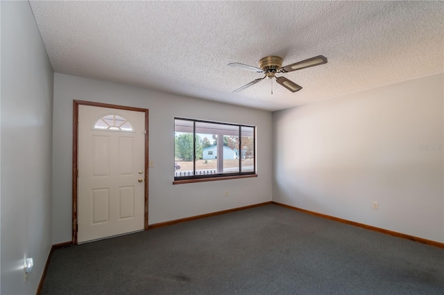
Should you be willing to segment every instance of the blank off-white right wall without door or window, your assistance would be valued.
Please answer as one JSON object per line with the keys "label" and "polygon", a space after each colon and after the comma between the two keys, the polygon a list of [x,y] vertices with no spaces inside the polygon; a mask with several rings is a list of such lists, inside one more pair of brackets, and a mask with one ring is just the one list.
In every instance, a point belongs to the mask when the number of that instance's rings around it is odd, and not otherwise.
{"label": "blank off-white right wall without door or window", "polygon": [[443,74],[274,112],[273,141],[273,201],[444,242]]}

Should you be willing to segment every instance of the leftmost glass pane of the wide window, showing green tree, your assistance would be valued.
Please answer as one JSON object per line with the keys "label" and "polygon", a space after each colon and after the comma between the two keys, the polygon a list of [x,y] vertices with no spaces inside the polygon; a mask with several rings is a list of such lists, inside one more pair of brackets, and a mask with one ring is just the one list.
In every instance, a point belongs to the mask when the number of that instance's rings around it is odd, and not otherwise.
{"label": "leftmost glass pane of the wide window, showing green tree", "polygon": [[175,120],[174,125],[174,176],[194,175],[193,122]]}

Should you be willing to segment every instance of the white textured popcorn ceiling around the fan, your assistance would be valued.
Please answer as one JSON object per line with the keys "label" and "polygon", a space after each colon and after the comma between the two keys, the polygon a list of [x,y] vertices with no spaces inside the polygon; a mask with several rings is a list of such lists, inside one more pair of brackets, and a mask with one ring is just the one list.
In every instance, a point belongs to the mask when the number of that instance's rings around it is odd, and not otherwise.
{"label": "white textured popcorn ceiling around the fan", "polygon": [[[443,1],[31,1],[54,71],[275,111],[444,72]],[[316,55],[328,63],[232,93]]]}

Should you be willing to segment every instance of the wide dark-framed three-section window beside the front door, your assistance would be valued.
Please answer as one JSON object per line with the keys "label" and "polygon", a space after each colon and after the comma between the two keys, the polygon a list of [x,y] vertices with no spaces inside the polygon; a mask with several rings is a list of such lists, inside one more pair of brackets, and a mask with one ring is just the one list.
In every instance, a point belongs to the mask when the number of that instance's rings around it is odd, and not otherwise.
{"label": "wide dark-framed three-section window beside the front door", "polygon": [[174,180],[255,175],[255,127],[175,118]]}

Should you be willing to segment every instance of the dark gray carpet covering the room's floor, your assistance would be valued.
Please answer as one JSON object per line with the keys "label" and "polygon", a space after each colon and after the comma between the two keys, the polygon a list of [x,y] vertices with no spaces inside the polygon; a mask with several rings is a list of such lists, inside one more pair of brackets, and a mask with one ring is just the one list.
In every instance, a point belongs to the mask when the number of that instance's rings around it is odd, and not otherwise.
{"label": "dark gray carpet covering the room's floor", "polygon": [[444,294],[444,249],[267,205],[54,251],[42,294]]}

